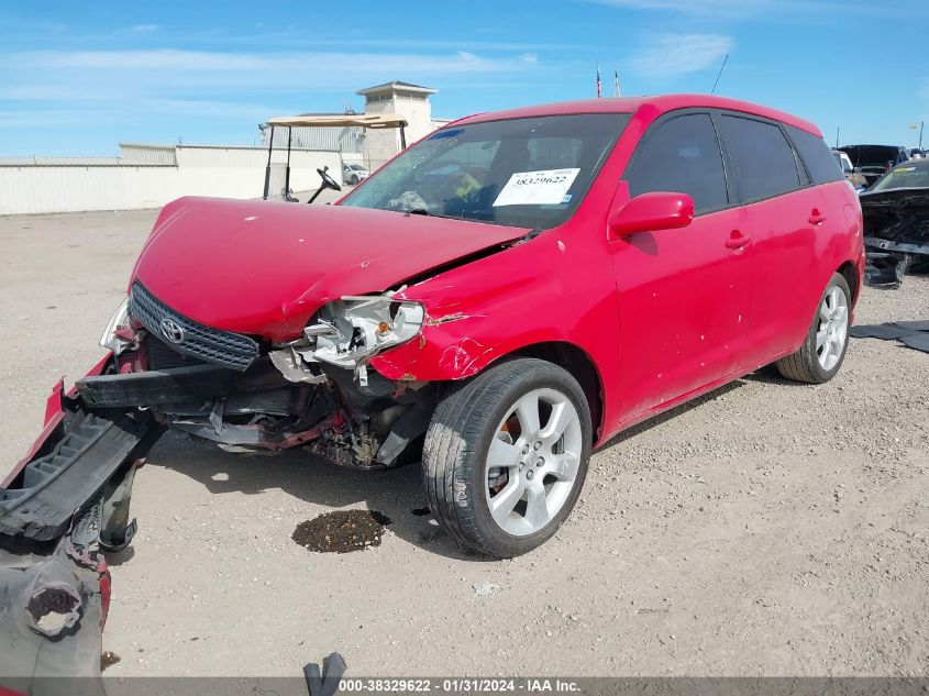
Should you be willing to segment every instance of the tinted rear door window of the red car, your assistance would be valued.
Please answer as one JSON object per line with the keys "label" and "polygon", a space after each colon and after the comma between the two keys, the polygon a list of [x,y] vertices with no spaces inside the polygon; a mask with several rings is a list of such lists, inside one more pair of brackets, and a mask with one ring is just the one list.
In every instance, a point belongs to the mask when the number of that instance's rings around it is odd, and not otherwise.
{"label": "tinted rear door window of the red car", "polygon": [[779,128],[740,117],[725,115],[720,121],[736,167],[736,188],[743,201],[800,187],[794,151]]}

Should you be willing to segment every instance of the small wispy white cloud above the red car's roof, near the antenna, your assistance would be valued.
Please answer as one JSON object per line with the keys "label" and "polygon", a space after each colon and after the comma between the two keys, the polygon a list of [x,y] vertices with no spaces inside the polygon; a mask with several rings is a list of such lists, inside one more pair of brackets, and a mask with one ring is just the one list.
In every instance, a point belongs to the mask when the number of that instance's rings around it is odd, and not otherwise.
{"label": "small wispy white cloud above the red car's roof, near the antenna", "polygon": [[731,36],[661,34],[633,59],[632,66],[651,77],[675,77],[717,66],[732,46]]}

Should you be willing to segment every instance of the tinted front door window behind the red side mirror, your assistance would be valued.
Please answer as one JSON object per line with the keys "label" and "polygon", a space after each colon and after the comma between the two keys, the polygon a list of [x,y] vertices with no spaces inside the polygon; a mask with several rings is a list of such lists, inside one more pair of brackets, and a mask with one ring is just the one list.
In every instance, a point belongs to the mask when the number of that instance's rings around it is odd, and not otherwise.
{"label": "tinted front door window behind the red side mirror", "polygon": [[719,141],[706,113],[675,117],[656,125],[645,135],[623,178],[632,196],[687,194],[697,212],[729,202]]}

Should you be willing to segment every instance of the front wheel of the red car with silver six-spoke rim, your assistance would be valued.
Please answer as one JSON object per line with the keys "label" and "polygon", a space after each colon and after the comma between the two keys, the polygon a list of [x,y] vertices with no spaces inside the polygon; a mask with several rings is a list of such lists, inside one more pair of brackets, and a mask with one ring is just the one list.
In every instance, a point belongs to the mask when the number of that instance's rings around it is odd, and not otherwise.
{"label": "front wheel of the red car with silver six-spoke rim", "polygon": [[591,439],[590,408],[569,373],[535,358],[494,365],[439,401],[423,444],[429,507],[465,550],[532,551],[574,508]]}

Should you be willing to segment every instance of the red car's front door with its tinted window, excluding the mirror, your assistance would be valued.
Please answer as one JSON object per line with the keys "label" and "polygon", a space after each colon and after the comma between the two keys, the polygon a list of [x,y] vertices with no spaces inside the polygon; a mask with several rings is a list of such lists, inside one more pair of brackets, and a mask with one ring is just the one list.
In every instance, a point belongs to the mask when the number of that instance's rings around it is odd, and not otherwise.
{"label": "red car's front door with its tinted window, excluding the mirror", "polygon": [[610,244],[619,295],[621,419],[629,422],[744,364],[754,252],[743,212],[731,205],[708,112],[676,113],[652,125],[623,179],[631,196],[688,194],[696,209],[686,228]]}

